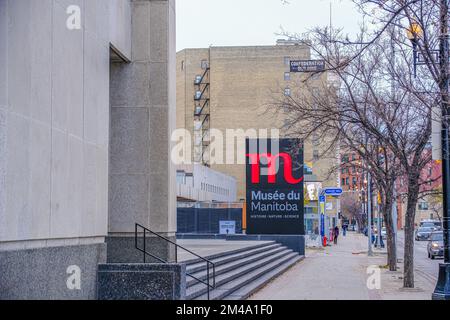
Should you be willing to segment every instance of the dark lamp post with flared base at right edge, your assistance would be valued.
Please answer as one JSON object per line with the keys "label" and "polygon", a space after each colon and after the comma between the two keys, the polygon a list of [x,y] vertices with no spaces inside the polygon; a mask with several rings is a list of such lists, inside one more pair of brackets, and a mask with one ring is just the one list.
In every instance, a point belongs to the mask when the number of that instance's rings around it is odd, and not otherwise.
{"label": "dark lamp post with flared base at right edge", "polygon": [[441,79],[439,89],[442,101],[442,184],[443,184],[443,234],[444,263],[439,266],[439,280],[433,300],[450,300],[450,143],[449,143],[449,0],[440,0],[439,65]]}

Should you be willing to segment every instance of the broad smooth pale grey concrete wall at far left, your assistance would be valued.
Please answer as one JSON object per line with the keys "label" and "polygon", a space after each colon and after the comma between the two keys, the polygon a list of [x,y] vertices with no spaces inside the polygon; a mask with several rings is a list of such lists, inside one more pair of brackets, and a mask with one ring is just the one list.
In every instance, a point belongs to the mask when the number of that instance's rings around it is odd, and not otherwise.
{"label": "broad smooth pale grey concrete wall at far left", "polygon": [[[81,30],[66,28],[72,4],[82,10]],[[0,248],[105,236],[108,1],[1,0],[0,7]]]}

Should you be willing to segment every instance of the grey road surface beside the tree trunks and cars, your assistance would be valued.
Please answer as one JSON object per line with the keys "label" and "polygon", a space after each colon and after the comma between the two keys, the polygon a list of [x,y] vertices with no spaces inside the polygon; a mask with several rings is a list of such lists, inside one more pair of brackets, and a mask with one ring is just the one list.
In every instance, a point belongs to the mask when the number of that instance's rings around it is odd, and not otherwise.
{"label": "grey road surface beside the tree trunks and cars", "polygon": [[[404,239],[405,235],[403,231],[398,234],[398,259],[403,262],[404,255]],[[423,277],[433,285],[436,285],[439,264],[444,260],[437,258],[436,260],[428,259],[427,253],[427,241],[416,241],[414,244],[414,270],[416,276]]]}

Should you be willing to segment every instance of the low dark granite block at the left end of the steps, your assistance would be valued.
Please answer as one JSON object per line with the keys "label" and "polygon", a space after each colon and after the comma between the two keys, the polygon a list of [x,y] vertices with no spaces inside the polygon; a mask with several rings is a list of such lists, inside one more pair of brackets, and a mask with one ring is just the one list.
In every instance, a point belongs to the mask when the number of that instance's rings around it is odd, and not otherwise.
{"label": "low dark granite block at the left end of the steps", "polygon": [[99,265],[99,300],[184,300],[185,298],[185,265]]}

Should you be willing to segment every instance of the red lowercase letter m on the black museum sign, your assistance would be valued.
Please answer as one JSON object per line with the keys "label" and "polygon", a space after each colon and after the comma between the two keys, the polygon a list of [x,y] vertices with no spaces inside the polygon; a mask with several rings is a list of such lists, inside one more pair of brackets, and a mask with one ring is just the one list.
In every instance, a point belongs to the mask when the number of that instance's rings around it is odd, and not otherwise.
{"label": "red lowercase letter m on the black museum sign", "polygon": [[257,184],[261,181],[261,158],[267,159],[268,165],[268,182],[275,184],[277,180],[277,160],[282,158],[284,161],[284,179],[289,184],[299,184],[303,181],[303,177],[295,179],[292,176],[292,158],[287,153],[279,153],[272,155],[271,153],[263,154],[247,154],[250,159],[252,183]]}

